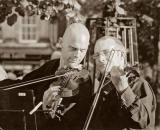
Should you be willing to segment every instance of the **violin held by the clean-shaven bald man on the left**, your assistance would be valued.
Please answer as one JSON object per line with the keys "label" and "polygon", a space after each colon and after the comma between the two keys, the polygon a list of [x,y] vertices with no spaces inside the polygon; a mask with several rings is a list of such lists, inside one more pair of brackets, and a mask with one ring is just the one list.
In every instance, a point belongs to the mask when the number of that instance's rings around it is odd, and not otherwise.
{"label": "violin held by the clean-shaven bald man on the left", "polygon": [[[64,71],[65,70],[57,71],[56,74],[59,75],[61,73],[64,73]],[[80,71],[77,69],[72,69],[67,73],[68,74],[65,77],[59,78],[56,82],[53,82],[50,86],[53,87],[53,89],[54,86],[55,87],[60,86],[59,91],[58,93],[56,93],[55,97],[48,102],[49,104],[44,104],[43,106],[44,110],[46,109],[50,110],[49,112],[46,112],[46,114],[51,118],[57,117],[60,120],[61,116],[63,116],[66,111],[68,111],[74,106],[74,103],[69,104],[69,106],[67,105],[67,107],[63,105],[62,104],[63,97],[71,97],[77,95],[79,93],[79,87],[78,87],[79,84],[87,80],[89,77],[89,71],[86,69],[82,69]],[[49,90],[47,91],[49,92]],[[48,95],[48,92],[46,92],[45,94]]]}

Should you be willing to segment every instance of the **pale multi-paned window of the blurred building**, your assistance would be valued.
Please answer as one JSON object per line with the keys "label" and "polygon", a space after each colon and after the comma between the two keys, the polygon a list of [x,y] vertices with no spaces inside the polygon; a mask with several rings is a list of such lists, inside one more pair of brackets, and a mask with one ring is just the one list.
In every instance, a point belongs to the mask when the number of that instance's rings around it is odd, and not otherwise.
{"label": "pale multi-paned window of the blurred building", "polygon": [[35,16],[21,18],[20,42],[31,43],[37,41],[37,19]]}

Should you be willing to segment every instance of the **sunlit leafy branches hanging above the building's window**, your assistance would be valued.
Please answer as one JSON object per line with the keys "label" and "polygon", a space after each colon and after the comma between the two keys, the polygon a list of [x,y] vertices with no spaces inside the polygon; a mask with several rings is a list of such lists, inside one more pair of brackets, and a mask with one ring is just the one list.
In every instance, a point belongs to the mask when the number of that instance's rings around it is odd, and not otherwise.
{"label": "sunlit leafy branches hanging above the building's window", "polygon": [[0,23],[7,20],[8,25],[12,26],[18,15],[35,14],[40,15],[41,20],[51,22],[62,15],[77,20],[80,17],[79,9],[76,0],[0,0]]}

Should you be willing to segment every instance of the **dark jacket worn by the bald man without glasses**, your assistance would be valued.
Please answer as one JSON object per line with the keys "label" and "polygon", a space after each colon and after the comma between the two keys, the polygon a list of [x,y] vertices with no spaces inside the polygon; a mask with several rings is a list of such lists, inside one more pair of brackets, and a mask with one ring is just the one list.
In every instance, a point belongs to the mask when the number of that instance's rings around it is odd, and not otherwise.
{"label": "dark jacket worn by the bald man without glasses", "polygon": [[[4,80],[0,82],[0,86],[6,86],[10,84],[20,83],[24,81],[29,81],[37,78],[41,78],[48,75],[54,75],[55,71],[59,67],[59,60],[51,60],[45,63],[40,68],[32,71],[31,73],[24,76],[22,80]],[[36,97],[36,102],[42,101],[44,91],[48,89],[49,85],[53,82],[44,81],[32,85],[22,87],[21,89],[33,89]],[[91,79],[85,80],[79,85],[79,94],[73,97],[63,98],[64,101],[68,103],[75,102],[76,105],[69,110],[61,121],[57,119],[46,118],[42,112],[37,112],[37,124],[40,130],[78,130],[81,129],[85,121],[86,115],[89,110],[89,103],[91,101]]]}

